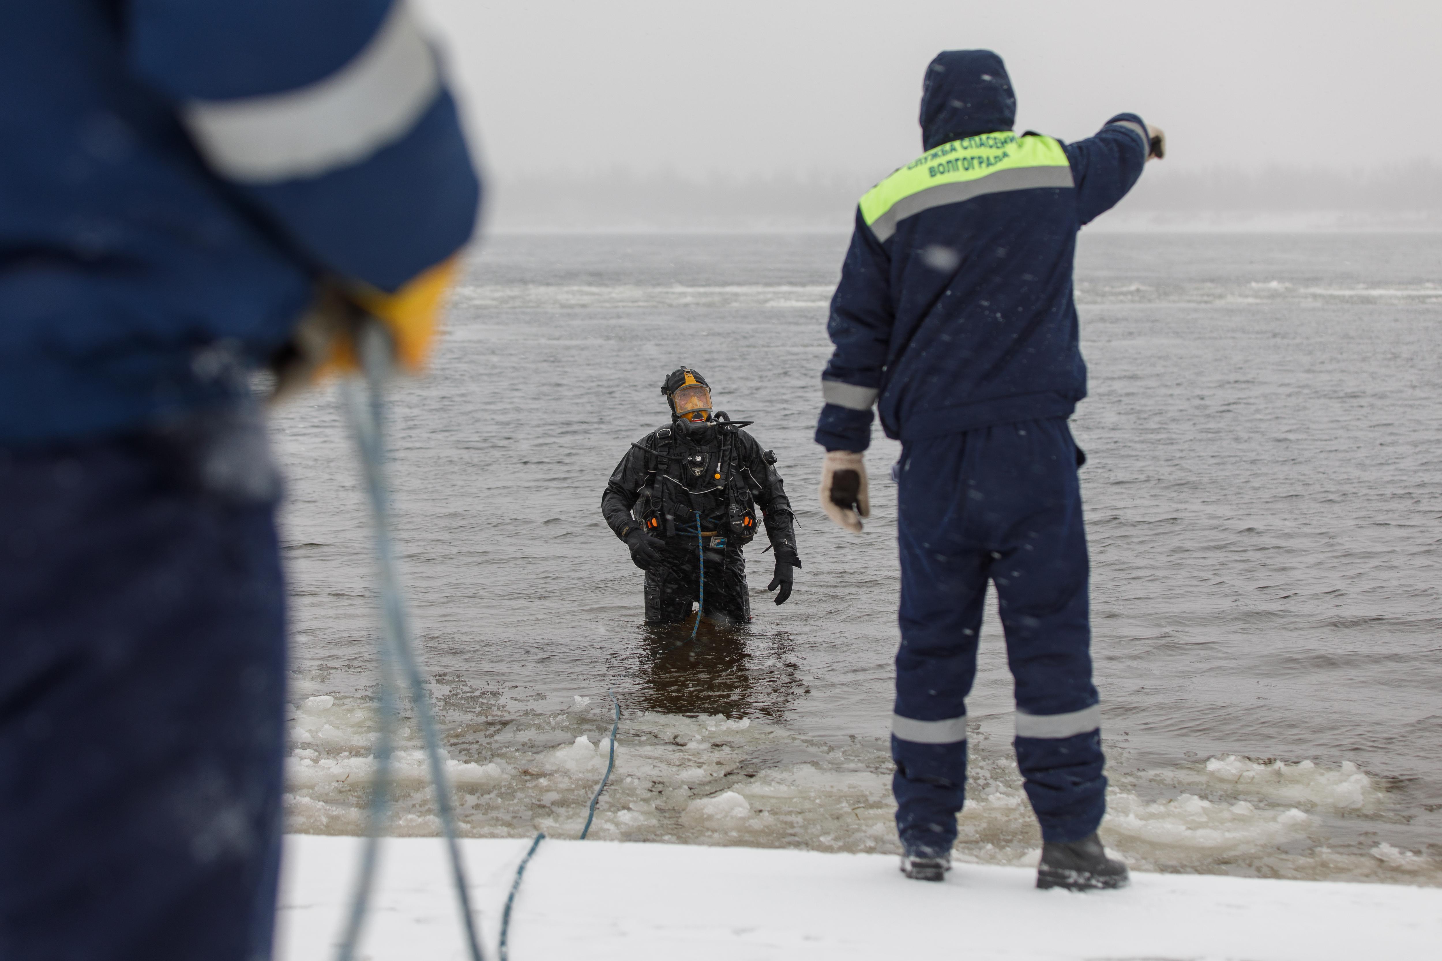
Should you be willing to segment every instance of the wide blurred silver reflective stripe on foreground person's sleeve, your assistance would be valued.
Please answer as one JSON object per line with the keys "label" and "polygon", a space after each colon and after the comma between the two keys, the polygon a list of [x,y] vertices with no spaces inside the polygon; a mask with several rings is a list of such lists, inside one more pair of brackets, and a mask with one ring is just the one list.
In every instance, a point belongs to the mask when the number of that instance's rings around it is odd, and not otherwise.
{"label": "wide blurred silver reflective stripe on foreground person's sleeve", "polygon": [[440,92],[435,56],[397,0],[371,42],[300,89],[190,101],[182,115],[215,170],[244,183],[313,177],[401,140]]}

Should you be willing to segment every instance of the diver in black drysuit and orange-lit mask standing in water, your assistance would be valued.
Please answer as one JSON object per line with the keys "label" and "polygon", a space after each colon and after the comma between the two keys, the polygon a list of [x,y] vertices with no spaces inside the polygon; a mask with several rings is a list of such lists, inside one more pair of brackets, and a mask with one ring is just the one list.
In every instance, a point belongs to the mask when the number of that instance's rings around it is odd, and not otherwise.
{"label": "diver in black drysuit and orange-lit mask standing in water", "polygon": [[792,501],[776,471],[776,455],[761,451],[741,428],[750,421],[712,415],[705,377],[681,367],[662,383],[672,422],[652,431],[622,457],[601,496],[601,513],[646,572],[646,622],[675,624],[691,614],[705,566],[705,617],[746,624],[751,601],[741,553],[754,536],[757,511],[776,552],[767,591],[792,595],[796,550]]}

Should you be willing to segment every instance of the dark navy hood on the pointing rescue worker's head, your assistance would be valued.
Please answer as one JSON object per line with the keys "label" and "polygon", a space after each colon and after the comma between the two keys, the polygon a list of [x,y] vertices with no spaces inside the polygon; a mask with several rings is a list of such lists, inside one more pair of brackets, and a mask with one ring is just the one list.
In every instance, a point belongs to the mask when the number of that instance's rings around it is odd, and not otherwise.
{"label": "dark navy hood on the pointing rescue worker's head", "polygon": [[1007,65],[991,50],[942,50],[921,82],[921,148],[1011,130],[1017,95]]}

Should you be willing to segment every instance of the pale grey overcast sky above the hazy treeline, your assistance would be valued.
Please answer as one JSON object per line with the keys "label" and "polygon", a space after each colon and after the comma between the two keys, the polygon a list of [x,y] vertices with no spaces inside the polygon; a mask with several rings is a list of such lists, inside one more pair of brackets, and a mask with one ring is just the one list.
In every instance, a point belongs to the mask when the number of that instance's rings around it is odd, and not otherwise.
{"label": "pale grey overcast sky above the hazy treeline", "polygon": [[418,1],[505,176],[881,176],[949,48],[1007,59],[1018,130],[1136,111],[1172,169],[1442,160],[1439,0]]}

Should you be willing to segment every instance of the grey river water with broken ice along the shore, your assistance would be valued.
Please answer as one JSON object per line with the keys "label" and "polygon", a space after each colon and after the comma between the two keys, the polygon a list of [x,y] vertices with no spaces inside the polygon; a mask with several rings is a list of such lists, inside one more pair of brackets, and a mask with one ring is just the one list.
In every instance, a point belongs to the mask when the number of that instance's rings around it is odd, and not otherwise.
{"label": "grey river water with broken ice along the shore", "polygon": [[[895,850],[897,447],[832,527],[810,439],[836,235],[497,236],[431,375],[394,393],[395,500],[464,831]],[[1133,867],[1442,883],[1442,236],[1087,233],[1076,415],[1093,650]],[[756,419],[805,568],[744,628],[642,624],[600,516],[686,363]],[[290,827],[356,833],[371,775],[371,547],[330,390],[275,418],[294,599]],[[760,542],[758,542],[760,545]],[[957,857],[1035,860],[995,620]],[[407,730],[394,830],[437,830]]]}

